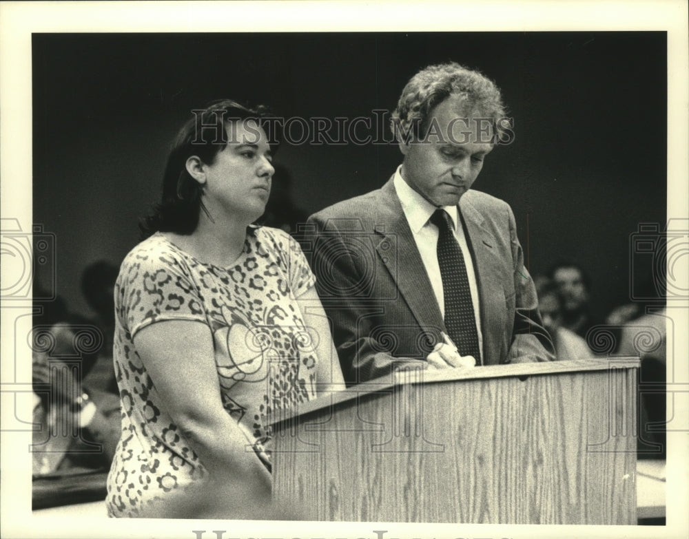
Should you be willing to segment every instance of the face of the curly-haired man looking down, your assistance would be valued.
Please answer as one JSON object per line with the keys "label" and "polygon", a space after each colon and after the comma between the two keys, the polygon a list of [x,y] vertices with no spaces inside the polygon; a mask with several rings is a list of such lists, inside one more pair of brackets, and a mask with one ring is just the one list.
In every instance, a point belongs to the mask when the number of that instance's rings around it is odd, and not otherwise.
{"label": "face of the curly-haired man looking down", "polygon": [[436,207],[460,201],[493,149],[487,142],[492,131],[486,132],[486,122],[476,118],[467,114],[459,98],[450,96],[431,111],[426,140],[400,142],[402,178]]}

